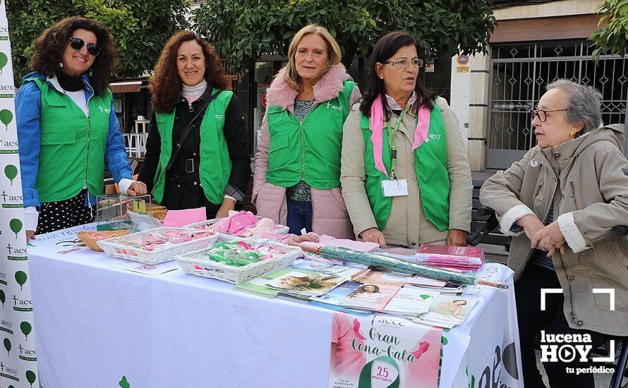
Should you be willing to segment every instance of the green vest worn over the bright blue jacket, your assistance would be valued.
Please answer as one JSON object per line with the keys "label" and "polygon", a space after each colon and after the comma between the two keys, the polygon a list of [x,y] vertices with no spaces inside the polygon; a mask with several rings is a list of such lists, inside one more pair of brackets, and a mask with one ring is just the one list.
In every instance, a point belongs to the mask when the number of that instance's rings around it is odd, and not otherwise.
{"label": "green vest worn over the bright blue jacket", "polygon": [[35,189],[40,202],[67,200],[87,183],[91,195],[103,193],[104,152],[109,135],[111,92],[93,95],[85,116],[68,95],[42,78],[28,78],[42,92],[40,131],[42,148]]}

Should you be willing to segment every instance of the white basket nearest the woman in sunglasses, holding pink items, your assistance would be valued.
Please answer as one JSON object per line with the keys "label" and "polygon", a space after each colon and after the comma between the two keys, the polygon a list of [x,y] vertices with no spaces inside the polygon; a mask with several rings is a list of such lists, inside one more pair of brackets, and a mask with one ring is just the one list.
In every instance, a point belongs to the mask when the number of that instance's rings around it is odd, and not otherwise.
{"label": "white basket nearest the woman in sunglasses, holding pink items", "polygon": [[212,234],[211,236],[198,238],[196,240],[188,241],[180,244],[168,244],[163,248],[157,248],[155,250],[144,250],[141,248],[135,248],[128,245],[124,245],[124,241],[128,241],[128,238],[137,238],[143,234],[150,234],[151,232],[160,231],[162,229],[176,229],[183,231],[195,232],[195,229],[189,228],[156,228],[147,231],[141,231],[135,234],[128,234],[126,236],[119,236],[114,238],[107,238],[106,240],[98,241],[98,245],[104,253],[109,257],[118,257],[120,259],[133,260],[136,262],[143,262],[146,264],[159,264],[162,262],[169,262],[174,260],[174,256],[181,255],[181,253],[190,252],[191,250],[199,250],[207,247],[211,243],[214,243],[218,236]]}

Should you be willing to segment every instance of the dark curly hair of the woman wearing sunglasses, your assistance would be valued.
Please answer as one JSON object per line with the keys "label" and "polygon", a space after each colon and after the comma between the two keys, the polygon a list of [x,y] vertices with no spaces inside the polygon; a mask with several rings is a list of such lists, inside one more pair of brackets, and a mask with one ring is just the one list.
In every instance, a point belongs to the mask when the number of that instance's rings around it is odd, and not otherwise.
{"label": "dark curly hair of the woman wearing sunglasses", "polygon": [[90,85],[96,95],[102,96],[107,92],[107,87],[114,78],[118,53],[109,29],[97,20],[73,16],[45,30],[35,43],[35,54],[30,60],[30,66],[37,73],[47,77],[54,76],[55,72],[59,71],[61,56],[70,44],[72,34],[80,28],[93,32],[100,47],[100,54],[96,56],[90,68],[92,71]]}

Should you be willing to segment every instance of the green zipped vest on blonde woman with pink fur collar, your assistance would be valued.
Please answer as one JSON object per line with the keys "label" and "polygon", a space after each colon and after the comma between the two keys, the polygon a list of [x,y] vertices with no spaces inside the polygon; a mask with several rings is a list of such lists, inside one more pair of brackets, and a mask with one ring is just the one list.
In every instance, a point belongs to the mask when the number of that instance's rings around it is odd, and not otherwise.
{"label": "green zipped vest on blonde woman with pink fur collar", "polygon": [[315,107],[303,121],[287,109],[268,107],[267,182],[282,187],[299,181],[319,189],[340,187],[342,125],[349,116],[349,99],[355,85],[345,81],[337,97]]}

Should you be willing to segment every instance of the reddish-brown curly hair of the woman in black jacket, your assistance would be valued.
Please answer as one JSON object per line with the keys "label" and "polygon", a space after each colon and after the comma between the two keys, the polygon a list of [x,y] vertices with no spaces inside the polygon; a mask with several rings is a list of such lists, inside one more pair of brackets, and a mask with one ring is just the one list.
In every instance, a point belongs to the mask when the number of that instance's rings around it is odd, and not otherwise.
{"label": "reddish-brown curly hair of the woman in black jacket", "polygon": [[220,57],[214,47],[202,37],[191,31],[179,31],[166,43],[159,61],[155,65],[155,73],[148,80],[148,90],[152,95],[152,108],[161,113],[170,113],[181,95],[183,81],[176,67],[176,55],[183,42],[194,40],[205,54],[205,80],[211,87],[227,89],[227,77]]}

